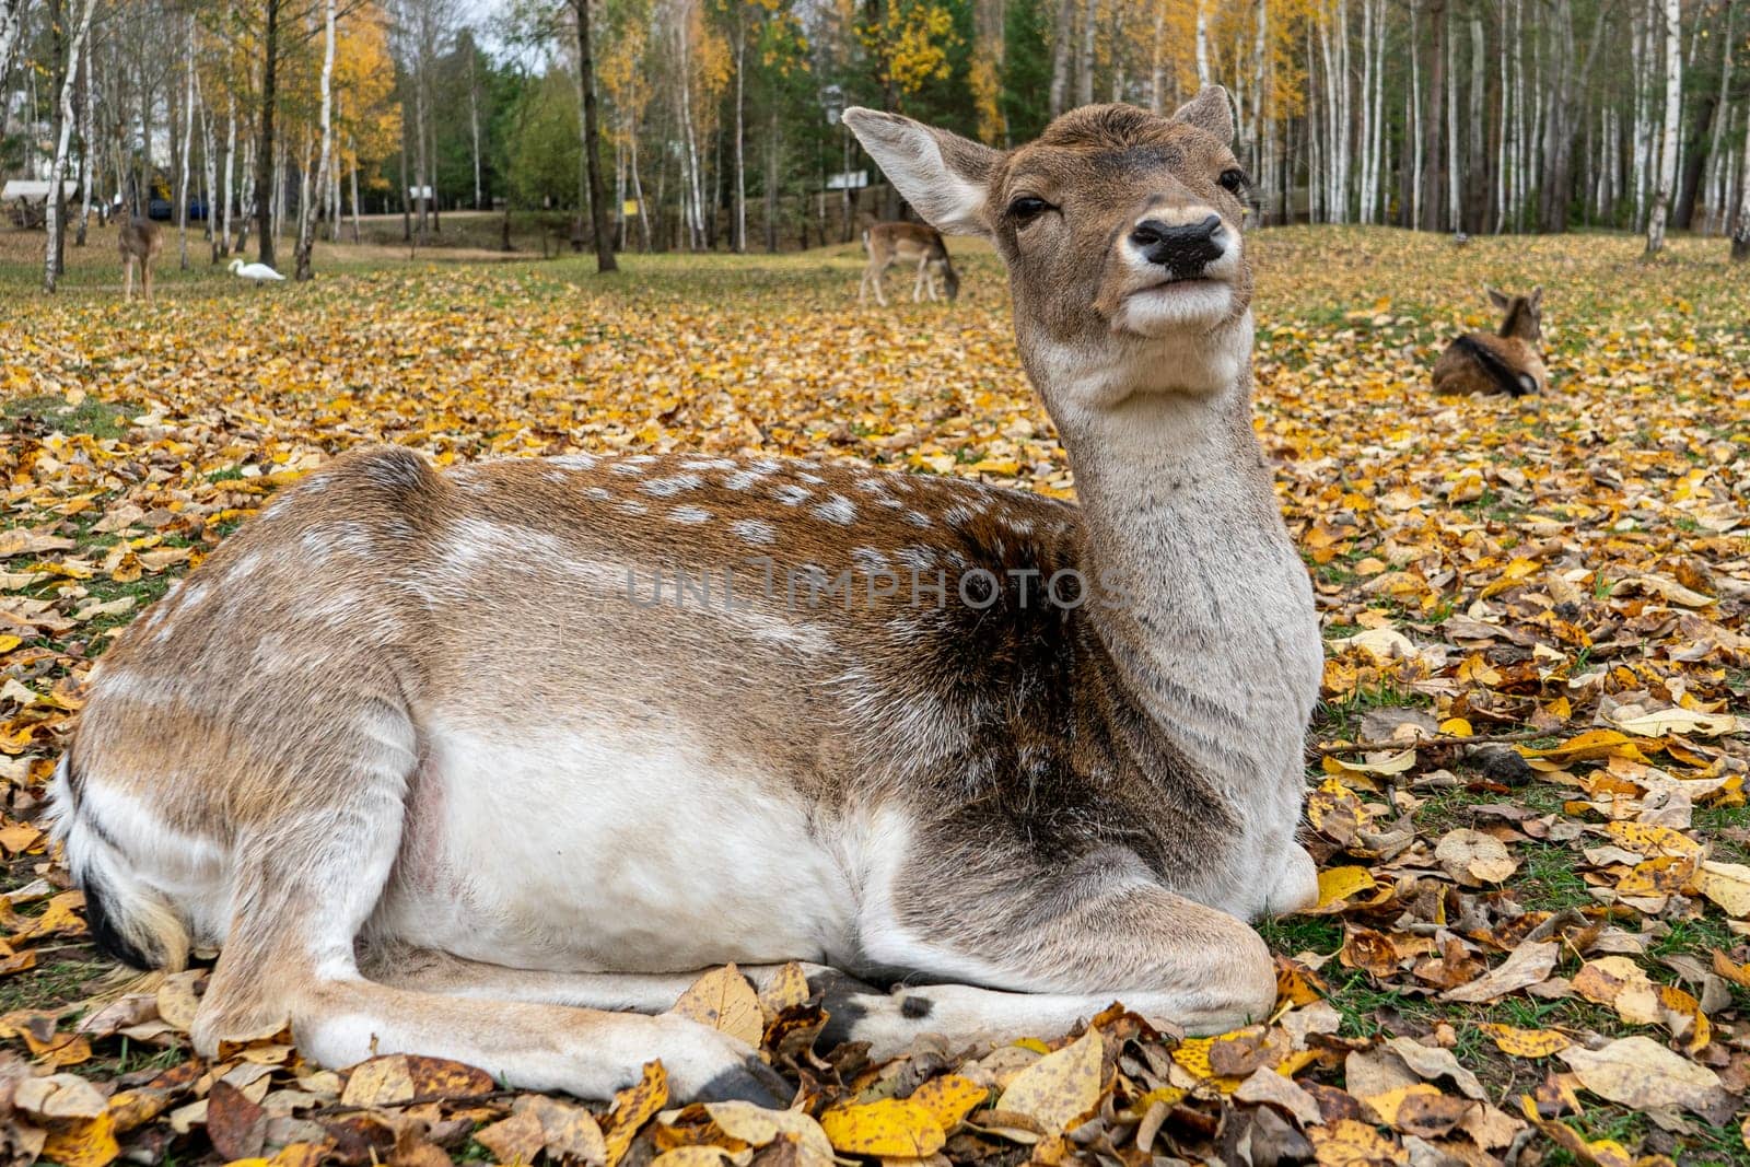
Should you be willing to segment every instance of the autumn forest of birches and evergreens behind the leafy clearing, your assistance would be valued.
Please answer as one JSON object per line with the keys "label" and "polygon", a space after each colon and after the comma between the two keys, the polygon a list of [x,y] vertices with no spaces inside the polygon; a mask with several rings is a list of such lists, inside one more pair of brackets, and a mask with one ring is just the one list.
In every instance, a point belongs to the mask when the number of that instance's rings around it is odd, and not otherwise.
{"label": "autumn forest of birches and evergreens behind the leafy clearing", "polygon": [[186,227],[184,264],[189,234],[215,262],[290,240],[306,273],[360,213],[429,245],[474,208],[612,266],[903,213],[847,105],[1012,145],[1204,82],[1264,224],[1750,252],[1743,0],[0,0],[0,173],[74,184],[42,208],[51,285],[117,196]]}

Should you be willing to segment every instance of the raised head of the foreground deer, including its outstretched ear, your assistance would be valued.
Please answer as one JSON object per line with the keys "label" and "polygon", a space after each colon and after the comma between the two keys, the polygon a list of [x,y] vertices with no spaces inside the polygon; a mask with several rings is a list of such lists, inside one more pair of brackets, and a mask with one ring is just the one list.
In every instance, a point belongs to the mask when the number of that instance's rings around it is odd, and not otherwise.
{"label": "raised head of the foreground deer, including its outstretched ear", "polygon": [[1083,107],[1006,152],[896,114],[854,108],[845,122],[938,231],[996,243],[1046,404],[1071,383],[1083,406],[1232,385],[1251,269],[1225,89],[1172,117]]}

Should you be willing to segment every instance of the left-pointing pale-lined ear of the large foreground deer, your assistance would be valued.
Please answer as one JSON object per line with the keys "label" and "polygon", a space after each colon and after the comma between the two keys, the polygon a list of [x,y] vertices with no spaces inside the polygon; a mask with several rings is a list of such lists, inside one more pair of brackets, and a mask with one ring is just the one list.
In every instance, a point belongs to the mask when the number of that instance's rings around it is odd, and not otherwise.
{"label": "left-pointing pale-lined ear of the large foreground deer", "polygon": [[852,107],[845,124],[900,196],[943,234],[989,234],[984,208],[996,150],[910,117]]}

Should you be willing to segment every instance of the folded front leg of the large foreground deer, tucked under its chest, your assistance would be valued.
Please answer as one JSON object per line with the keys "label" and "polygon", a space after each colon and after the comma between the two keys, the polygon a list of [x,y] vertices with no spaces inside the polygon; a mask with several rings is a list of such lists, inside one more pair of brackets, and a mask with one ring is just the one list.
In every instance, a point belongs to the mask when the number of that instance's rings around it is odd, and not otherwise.
{"label": "folded front leg of the large foreground deer, tucked under its chest", "polygon": [[842,1008],[833,1036],[903,1050],[920,1032],[956,1039],[1054,1036],[1124,1001],[1186,1032],[1225,1032],[1276,1004],[1262,938],[1194,903],[1125,847],[1055,859],[1017,831],[980,840],[950,819],[908,838],[866,887],[872,962],[908,985]]}

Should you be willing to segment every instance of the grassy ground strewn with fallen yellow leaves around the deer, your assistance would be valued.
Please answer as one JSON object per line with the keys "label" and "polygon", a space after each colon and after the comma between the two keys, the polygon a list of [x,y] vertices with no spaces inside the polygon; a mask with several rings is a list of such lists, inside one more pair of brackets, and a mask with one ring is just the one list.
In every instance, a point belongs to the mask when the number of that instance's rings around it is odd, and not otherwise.
{"label": "grassy ground strewn with fallen yellow leaves around the deer", "polygon": [[[1750,273],[1680,240],[1255,236],[1258,430],[1318,588],[1307,838],[1269,1025],[1111,1010],[868,1066],[807,989],[682,1011],[763,1041],[788,1113],[614,1108],[268,1039],[201,1064],[201,973],[119,980],[35,821],[110,637],[326,455],[814,453],[1073,481],[970,254],[959,304],[859,310],[850,250],[166,275],[124,308],[0,261],[0,1139],[18,1162],[1750,1162]],[[383,262],[382,257],[378,262]],[[166,264],[173,268],[173,264]],[[898,283],[898,282],[896,282]],[[1545,285],[1552,392],[1426,392],[1482,285]],[[707,1008],[709,1004],[709,1008]],[[940,1162],[940,1160],[938,1160]]]}

